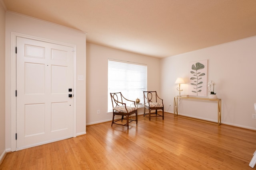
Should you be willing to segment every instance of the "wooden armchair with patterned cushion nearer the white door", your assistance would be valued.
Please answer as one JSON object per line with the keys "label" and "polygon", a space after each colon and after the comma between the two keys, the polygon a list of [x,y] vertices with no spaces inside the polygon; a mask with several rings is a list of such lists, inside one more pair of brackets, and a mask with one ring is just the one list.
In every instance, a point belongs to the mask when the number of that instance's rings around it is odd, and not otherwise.
{"label": "wooden armchair with patterned cushion nearer the white door", "polygon": [[[113,106],[113,119],[112,124],[127,126],[127,129],[129,129],[129,123],[132,121],[136,121],[136,125],[138,123],[138,115],[137,115],[137,108],[135,105],[135,101],[128,100],[124,98],[121,92],[118,93],[110,93],[111,100],[112,100],[112,106]],[[134,107],[130,107],[130,104],[134,104]],[[135,114],[135,120],[129,118],[130,115]],[[121,115],[121,119],[115,120],[115,115]],[[117,123],[118,121],[123,121],[124,116],[126,116],[126,124]]]}

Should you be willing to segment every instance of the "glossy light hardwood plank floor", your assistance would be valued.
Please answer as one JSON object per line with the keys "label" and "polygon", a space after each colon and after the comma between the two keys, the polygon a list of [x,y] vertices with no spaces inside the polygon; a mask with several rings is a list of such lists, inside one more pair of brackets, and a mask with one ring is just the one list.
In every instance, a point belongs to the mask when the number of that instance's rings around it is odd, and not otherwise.
{"label": "glossy light hardwood plank floor", "polygon": [[8,153],[0,169],[251,170],[256,150],[256,131],[170,113],[132,122],[129,131],[111,122],[86,129],[86,135]]}

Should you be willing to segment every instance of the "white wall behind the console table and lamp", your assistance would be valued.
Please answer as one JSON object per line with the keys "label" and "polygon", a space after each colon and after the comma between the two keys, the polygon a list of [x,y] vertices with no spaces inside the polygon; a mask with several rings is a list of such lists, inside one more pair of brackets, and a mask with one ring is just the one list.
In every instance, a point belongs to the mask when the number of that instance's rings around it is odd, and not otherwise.
{"label": "white wall behind the console table and lamp", "polygon": [[[222,99],[222,123],[256,129],[256,119],[252,119],[256,102],[255,45],[256,37],[250,37],[162,59],[161,91],[166,111],[173,113],[174,96],[178,95],[176,78],[188,82],[189,63],[208,60],[208,82],[216,82],[214,92]],[[188,94],[188,84],[181,84],[181,89],[181,94]],[[212,102],[183,99],[179,106],[181,114],[213,121],[217,120],[216,109]]]}

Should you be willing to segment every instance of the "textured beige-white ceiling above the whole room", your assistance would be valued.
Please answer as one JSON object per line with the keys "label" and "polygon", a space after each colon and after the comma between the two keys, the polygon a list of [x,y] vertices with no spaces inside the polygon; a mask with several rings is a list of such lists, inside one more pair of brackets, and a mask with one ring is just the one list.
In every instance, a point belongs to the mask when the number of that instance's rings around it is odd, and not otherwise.
{"label": "textured beige-white ceiling above the whole room", "polygon": [[87,32],[87,42],[158,58],[256,35],[256,0],[3,2],[8,11]]}

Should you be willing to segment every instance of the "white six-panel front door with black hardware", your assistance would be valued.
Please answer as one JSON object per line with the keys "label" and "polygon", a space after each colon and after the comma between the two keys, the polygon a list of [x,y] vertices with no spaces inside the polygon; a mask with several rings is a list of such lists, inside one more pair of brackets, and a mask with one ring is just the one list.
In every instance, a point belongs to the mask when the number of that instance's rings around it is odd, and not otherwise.
{"label": "white six-panel front door with black hardware", "polygon": [[74,48],[17,37],[17,149],[73,137]]}

